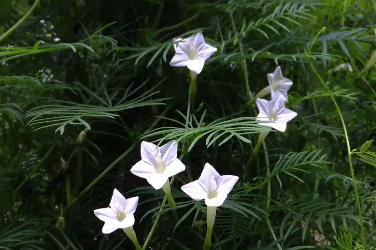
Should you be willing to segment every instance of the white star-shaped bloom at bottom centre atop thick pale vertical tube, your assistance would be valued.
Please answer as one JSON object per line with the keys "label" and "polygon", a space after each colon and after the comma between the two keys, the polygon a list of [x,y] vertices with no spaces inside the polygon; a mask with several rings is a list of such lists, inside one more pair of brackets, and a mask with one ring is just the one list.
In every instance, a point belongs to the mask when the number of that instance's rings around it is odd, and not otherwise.
{"label": "white star-shaped bloom at bottom centre atop thick pale vertical tube", "polygon": [[205,199],[207,206],[219,207],[226,200],[238,179],[239,177],[232,175],[221,176],[212,165],[206,163],[200,178],[183,185],[181,189],[193,200]]}

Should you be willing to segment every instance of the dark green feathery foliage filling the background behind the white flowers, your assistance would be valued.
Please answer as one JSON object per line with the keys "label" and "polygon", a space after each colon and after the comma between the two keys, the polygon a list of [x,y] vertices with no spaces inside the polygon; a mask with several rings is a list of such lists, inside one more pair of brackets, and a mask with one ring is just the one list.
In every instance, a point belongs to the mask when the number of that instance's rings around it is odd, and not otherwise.
{"label": "dark green feathery foliage filling the background behind the white flowers", "polygon": [[[217,212],[213,249],[362,249],[346,137],[305,54],[323,27],[311,56],[356,150],[363,250],[376,247],[376,1],[2,0],[0,6],[1,249],[132,249],[121,231],[102,234],[93,214],[114,188],[140,197],[134,229],[141,245],[162,213],[144,249],[201,249],[204,204],[180,186],[197,179],[206,162],[241,177]],[[189,71],[168,62],[172,39],[198,31],[218,51],[198,76],[186,127]],[[254,123],[257,108],[244,104],[277,65],[294,82],[288,108],[298,116],[285,133],[270,133],[252,159],[265,128]],[[142,140],[172,139],[180,141],[187,167],[173,184],[178,223],[171,210],[160,210],[162,192],[129,172]]]}

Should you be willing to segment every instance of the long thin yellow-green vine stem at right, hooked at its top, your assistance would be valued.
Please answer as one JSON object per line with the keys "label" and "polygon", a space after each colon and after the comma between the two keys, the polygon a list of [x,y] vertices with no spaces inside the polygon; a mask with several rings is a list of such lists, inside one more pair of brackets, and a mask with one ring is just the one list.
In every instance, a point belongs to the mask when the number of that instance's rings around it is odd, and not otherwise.
{"label": "long thin yellow-green vine stem at right, hooked at its top", "polygon": [[324,80],[320,77],[319,73],[316,71],[314,65],[313,65],[313,62],[311,61],[311,49],[312,49],[312,46],[313,44],[316,42],[317,40],[317,37],[326,30],[326,28],[324,27],[323,29],[321,29],[321,31],[316,35],[315,39],[313,40],[313,42],[311,43],[311,46],[309,48],[309,51],[308,51],[308,61],[310,63],[310,66],[312,68],[312,70],[314,71],[316,77],[320,80],[322,86],[325,88],[326,92],[329,94],[330,98],[332,99],[332,102],[338,112],[338,115],[339,115],[339,118],[341,120],[341,124],[342,124],[342,128],[343,128],[343,131],[344,131],[344,134],[345,134],[345,140],[346,140],[346,147],[347,147],[347,159],[348,159],[348,162],[349,162],[349,166],[350,166],[350,174],[351,174],[351,178],[352,178],[352,182],[353,182],[353,186],[354,186],[354,194],[355,194],[355,201],[356,201],[356,206],[357,206],[357,209],[358,209],[358,213],[359,213],[359,220],[360,220],[360,232],[361,232],[361,241],[362,241],[362,248],[363,249],[366,249],[365,246],[365,234],[364,234],[364,223],[363,223],[363,215],[362,215],[362,212],[361,212],[361,206],[360,206],[360,199],[359,199],[359,194],[358,194],[358,187],[357,187],[357,184],[356,184],[356,179],[355,179],[355,174],[354,174],[354,168],[352,166],[352,159],[351,159],[351,147],[350,147],[350,141],[349,141],[349,137],[348,137],[348,134],[347,134],[347,129],[346,129],[346,124],[345,124],[345,120],[343,119],[343,116],[342,116],[342,112],[341,112],[341,109],[339,108],[332,92],[330,91],[328,85],[324,82]]}

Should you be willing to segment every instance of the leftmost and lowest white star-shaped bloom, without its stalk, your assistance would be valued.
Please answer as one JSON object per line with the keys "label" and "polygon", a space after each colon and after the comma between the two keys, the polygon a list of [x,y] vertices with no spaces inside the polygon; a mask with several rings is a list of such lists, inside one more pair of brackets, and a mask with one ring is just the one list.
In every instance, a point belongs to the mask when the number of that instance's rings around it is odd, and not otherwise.
{"label": "leftmost and lowest white star-shaped bloom, without its stalk", "polygon": [[110,201],[110,207],[94,210],[95,216],[104,221],[103,233],[112,233],[119,228],[128,228],[134,225],[134,212],[137,209],[138,196],[125,199],[125,197],[114,189]]}

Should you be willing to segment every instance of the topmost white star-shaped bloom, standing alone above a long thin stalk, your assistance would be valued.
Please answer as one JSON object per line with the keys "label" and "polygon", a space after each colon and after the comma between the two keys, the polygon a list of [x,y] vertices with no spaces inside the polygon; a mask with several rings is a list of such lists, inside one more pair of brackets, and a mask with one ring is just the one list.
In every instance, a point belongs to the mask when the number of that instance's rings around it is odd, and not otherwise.
{"label": "topmost white star-shaped bloom, standing alone above a long thin stalk", "polygon": [[201,73],[205,60],[217,51],[217,48],[205,43],[202,33],[197,33],[187,39],[174,39],[175,55],[170,65],[174,67],[188,67],[196,74]]}

